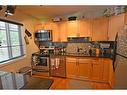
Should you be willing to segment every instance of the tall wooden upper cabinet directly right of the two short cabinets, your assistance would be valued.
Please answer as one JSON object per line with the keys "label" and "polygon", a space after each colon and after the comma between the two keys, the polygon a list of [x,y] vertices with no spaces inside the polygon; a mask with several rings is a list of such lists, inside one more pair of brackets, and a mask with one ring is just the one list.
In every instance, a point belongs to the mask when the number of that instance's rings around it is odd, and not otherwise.
{"label": "tall wooden upper cabinet directly right of the two short cabinets", "polygon": [[92,23],[92,41],[108,40],[108,18],[94,19]]}

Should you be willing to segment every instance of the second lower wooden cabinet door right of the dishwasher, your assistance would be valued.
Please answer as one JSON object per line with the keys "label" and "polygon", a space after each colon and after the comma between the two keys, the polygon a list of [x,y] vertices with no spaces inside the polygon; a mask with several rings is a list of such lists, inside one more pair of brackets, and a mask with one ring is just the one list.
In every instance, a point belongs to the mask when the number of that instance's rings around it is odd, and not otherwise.
{"label": "second lower wooden cabinet door right of the dishwasher", "polygon": [[78,60],[78,77],[80,79],[89,79],[90,77],[90,59],[79,59]]}

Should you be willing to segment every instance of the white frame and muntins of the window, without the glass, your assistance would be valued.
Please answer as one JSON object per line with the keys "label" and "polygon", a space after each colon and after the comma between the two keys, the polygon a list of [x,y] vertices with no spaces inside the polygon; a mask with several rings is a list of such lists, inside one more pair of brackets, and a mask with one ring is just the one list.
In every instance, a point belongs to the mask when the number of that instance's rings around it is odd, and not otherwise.
{"label": "white frame and muntins of the window, without the glass", "polygon": [[[23,44],[23,34],[22,34],[22,25],[20,24],[16,24],[16,23],[10,23],[10,22],[6,22],[6,21],[1,21],[0,22],[4,22],[5,23],[5,29],[1,29],[0,30],[5,30],[6,32],[6,40],[7,40],[7,45],[6,46],[0,46],[0,48],[5,47],[8,50],[8,59],[5,59],[3,61],[0,61],[0,65],[7,63],[7,61],[11,61],[20,57],[23,57],[25,55],[25,51],[24,51],[24,44]],[[9,28],[9,24],[14,24],[18,26],[18,30],[14,31],[11,30]],[[18,45],[12,45],[11,44],[11,32],[18,32],[18,40],[19,40],[19,44]],[[20,49],[20,55],[19,56],[15,56],[13,57],[13,51],[12,51],[12,47],[14,46],[19,46]]]}

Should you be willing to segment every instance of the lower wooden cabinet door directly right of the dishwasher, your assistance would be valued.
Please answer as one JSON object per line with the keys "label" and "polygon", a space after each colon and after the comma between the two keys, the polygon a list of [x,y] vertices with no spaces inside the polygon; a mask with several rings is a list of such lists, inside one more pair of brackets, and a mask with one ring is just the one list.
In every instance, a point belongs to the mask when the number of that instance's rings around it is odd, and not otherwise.
{"label": "lower wooden cabinet door directly right of the dishwasher", "polygon": [[76,58],[66,59],[66,74],[68,78],[76,78],[77,76],[77,61]]}

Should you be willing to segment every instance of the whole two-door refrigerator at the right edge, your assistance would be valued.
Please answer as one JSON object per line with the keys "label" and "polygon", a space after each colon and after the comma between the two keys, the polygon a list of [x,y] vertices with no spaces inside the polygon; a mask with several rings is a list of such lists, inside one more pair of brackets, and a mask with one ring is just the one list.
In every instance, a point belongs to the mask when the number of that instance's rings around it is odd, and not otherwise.
{"label": "whole two-door refrigerator at the right edge", "polygon": [[117,33],[114,56],[114,89],[127,89],[127,26]]}

